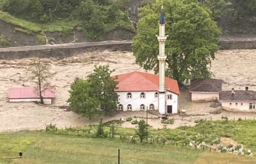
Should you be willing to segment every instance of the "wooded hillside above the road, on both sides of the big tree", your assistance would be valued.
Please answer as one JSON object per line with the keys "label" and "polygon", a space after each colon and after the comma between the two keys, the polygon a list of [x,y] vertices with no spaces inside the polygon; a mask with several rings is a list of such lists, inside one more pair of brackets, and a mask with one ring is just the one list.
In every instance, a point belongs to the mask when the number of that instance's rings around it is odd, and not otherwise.
{"label": "wooded hillside above the road, on both sides of the big tree", "polygon": [[[136,34],[139,7],[153,0],[0,0],[0,47],[102,40]],[[223,35],[255,34],[256,1],[198,0]],[[159,4],[159,11],[160,11]]]}

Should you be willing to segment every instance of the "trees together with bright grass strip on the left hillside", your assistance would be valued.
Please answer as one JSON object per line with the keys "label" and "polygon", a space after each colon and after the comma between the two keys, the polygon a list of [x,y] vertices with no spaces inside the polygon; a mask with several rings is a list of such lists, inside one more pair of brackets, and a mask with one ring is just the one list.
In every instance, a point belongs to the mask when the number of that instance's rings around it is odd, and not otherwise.
{"label": "trees together with bright grass strip on the left hillside", "polygon": [[61,37],[72,34],[74,27],[90,40],[103,40],[117,27],[134,31],[119,0],[0,0],[0,19],[14,24],[17,31],[27,34],[59,32]]}

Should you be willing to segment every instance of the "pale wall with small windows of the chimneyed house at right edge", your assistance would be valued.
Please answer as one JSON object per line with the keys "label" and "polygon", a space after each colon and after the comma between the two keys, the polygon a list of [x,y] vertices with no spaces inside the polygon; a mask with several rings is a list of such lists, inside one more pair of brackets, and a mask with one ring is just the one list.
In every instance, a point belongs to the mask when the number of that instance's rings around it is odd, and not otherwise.
{"label": "pale wall with small windows of the chimneyed house at right edge", "polygon": [[[230,105],[231,103],[231,105]],[[237,105],[236,105],[237,103]],[[241,105],[242,103],[242,105]],[[250,102],[250,101],[222,101],[221,105],[223,108],[226,109],[236,109],[241,111],[256,111],[255,109],[249,109],[250,103],[256,103],[256,102]]]}

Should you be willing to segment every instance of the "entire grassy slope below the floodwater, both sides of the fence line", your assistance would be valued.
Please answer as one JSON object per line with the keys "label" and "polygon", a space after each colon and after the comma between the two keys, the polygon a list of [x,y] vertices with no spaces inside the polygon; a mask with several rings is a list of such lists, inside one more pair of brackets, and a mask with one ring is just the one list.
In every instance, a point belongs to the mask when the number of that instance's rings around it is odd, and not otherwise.
{"label": "entire grassy slope below the floodwater, both sides of the fence line", "polygon": [[[166,136],[167,138],[182,142],[182,136],[201,135],[202,127],[205,133],[235,139],[255,152],[256,121],[213,121],[198,124],[195,127],[178,128],[174,130],[151,130],[154,136]],[[108,131],[108,128],[105,128]],[[77,134],[71,130],[67,134],[62,130],[58,132],[18,132],[0,133],[0,157],[15,156],[18,151],[24,152],[22,160],[16,159],[14,163],[116,163],[118,149],[121,150],[121,163],[255,163],[255,157],[241,157],[232,154],[209,153],[202,150],[195,151],[191,148],[178,147],[171,144],[140,144],[131,143],[131,139],[115,140],[89,138],[87,128],[83,128]],[[94,128],[95,130],[95,128]],[[134,134],[133,129],[119,128],[118,134],[126,136]],[[123,138],[122,137],[122,138]],[[208,138],[208,137],[207,137]],[[209,137],[210,138],[210,137]],[[136,139],[137,140],[137,139]],[[1,162],[1,161],[0,161]]]}

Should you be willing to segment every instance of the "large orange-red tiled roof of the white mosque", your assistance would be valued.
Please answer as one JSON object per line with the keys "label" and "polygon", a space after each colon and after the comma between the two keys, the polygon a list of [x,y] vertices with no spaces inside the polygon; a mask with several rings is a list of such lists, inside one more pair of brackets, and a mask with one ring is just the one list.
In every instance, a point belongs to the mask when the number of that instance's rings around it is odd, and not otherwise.
{"label": "large orange-red tiled roof of the white mosque", "polygon": [[[115,76],[113,76],[114,78]],[[130,72],[117,75],[119,82],[115,91],[157,91],[159,89],[159,75],[144,72]],[[177,80],[165,77],[165,86],[168,91],[180,94]]]}

